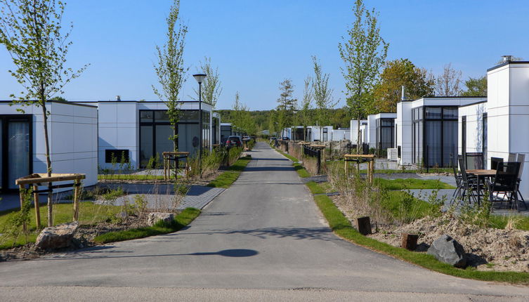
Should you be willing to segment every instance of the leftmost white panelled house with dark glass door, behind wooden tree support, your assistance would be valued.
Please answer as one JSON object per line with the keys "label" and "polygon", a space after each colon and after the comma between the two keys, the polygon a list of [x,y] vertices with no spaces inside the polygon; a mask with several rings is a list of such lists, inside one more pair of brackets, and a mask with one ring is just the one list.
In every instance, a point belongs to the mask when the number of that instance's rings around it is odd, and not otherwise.
{"label": "leftmost white panelled house with dark glass door, behind wooden tree support", "polygon": [[[1,192],[17,189],[17,178],[46,173],[41,107],[10,104],[11,101],[0,102]],[[98,181],[97,107],[48,101],[46,109],[53,173],[84,173],[83,185],[95,185]]]}

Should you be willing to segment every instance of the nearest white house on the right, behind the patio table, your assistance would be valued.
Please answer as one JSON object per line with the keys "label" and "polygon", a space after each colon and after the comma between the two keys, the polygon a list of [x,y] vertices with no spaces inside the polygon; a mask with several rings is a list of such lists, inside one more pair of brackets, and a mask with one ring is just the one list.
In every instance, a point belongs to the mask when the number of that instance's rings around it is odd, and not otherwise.
{"label": "nearest white house on the right, behind the patio table", "polygon": [[[529,196],[529,62],[510,61],[487,70],[487,98],[459,107],[460,155],[482,152],[485,169],[492,157],[504,162],[525,155],[520,191]],[[510,159],[509,159],[510,157]]]}

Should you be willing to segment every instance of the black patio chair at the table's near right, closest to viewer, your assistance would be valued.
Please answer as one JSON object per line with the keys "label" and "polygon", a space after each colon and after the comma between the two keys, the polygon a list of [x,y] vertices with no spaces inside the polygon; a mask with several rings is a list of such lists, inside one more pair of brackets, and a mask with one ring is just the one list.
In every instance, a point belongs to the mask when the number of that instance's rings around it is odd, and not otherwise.
{"label": "black patio chair at the table's near right, closest to viewer", "polygon": [[[514,203],[516,210],[520,211],[518,206],[519,170],[519,162],[503,162],[498,165],[494,181],[488,183],[489,197],[492,205],[495,202],[499,202],[501,207],[503,202],[509,202],[512,209]],[[495,195],[494,193],[503,193],[504,197],[499,198],[499,194]]]}

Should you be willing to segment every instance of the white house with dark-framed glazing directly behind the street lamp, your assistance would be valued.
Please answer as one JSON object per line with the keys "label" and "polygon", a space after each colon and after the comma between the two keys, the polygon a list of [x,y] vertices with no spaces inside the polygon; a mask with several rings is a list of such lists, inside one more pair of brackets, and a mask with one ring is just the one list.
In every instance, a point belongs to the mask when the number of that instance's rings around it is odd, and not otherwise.
{"label": "white house with dark-framed glazing directly behind the street lamp", "polygon": [[[130,162],[133,169],[145,168],[151,157],[161,160],[162,152],[172,151],[174,135],[167,106],[162,101],[102,100],[84,102],[98,106],[98,163],[112,169],[112,158]],[[199,104],[183,101],[176,134],[178,151],[195,156],[200,148]],[[211,150],[212,107],[202,103],[202,147]]]}

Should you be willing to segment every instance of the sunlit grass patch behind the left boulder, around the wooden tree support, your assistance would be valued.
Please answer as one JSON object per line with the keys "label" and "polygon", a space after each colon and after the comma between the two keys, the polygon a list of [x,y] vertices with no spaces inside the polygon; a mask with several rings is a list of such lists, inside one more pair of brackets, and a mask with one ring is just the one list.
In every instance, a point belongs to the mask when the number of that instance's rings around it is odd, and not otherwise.
{"label": "sunlit grass patch behind the left boulder, around the wooden tree support", "polygon": [[[48,220],[46,219],[46,213],[48,211],[47,209],[48,208],[46,205],[40,206],[41,224],[44,225],[48,225]],[[120,210],[120,206],[107,206],[93,204],[92,202],[81,202],[79,203],[79,223],[87,225],[107,221],[108,219],[115,217],[115,215],[119,213]],[[18,239],[15,241],[15,238],[7,235],[6,232],[6,230],[11,227],[8,223],[9,218],[15,215],[18,211],[20,211],[20,209],[12,209],[0,212],[0,233],[6,234],[0,236],[0,249],[9,249],[13,247],[13,244],[15,247],[18,247],[26,243],[24,235],[19,235]],[[31,221],[28,224],[28,230],[30,231],[29,235],[27,236],[28,243],[35,242],[37,235],[39,235],[39,231],[37,231],[37,225],[35,223],[34,213],[35,210],[32,206],[30,211]],[[73,214],[73,204],[55,204],[53,206],[53,223],[55,225],[61,223],[70,223],[73,221]]]}

